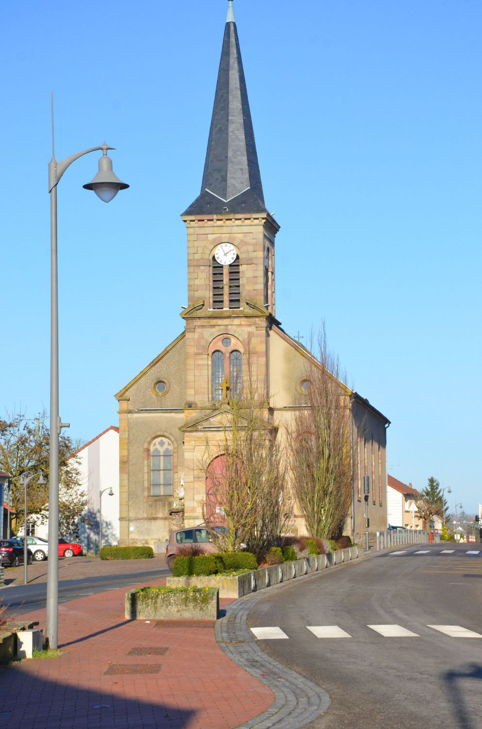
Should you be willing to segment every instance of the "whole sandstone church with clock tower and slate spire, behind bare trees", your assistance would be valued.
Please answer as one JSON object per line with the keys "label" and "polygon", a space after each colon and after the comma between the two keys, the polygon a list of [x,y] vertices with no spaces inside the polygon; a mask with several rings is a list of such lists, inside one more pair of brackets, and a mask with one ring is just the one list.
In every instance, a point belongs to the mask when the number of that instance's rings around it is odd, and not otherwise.
{"label": "whole sandstone church with clock tower and slate spire, behind bare trees", "polygon": [[[271,208],[272,209],[272,208]],[[201,192],[181,216],[187,232],[183,331],[117,394],[119,545],[151,545],[203,521],[207,443],[250,377],[263,383],[259,419],[283,429],[307,395],[312,355],[276,318],[276,235],[261,173],[232,0],[224,28]],[[301,286],[301,282],[300,282]],[[387,528],[390,421],[347,388],[357,473],[346,533]],[[362,427],[363,424],[363,427]],[[218,451],[219,452],[219,451]],[[306,534],[296,509],[293,533]]]}

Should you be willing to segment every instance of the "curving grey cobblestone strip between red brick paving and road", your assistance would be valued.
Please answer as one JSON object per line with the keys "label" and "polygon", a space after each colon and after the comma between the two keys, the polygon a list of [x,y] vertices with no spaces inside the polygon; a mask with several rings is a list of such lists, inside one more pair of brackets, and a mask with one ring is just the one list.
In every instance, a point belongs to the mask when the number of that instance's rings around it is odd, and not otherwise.
{"label": "curving grey cobblestone strip between red brick paving and road", "polygon": [[226,617],[216,622],[216,640],[221,650],[274,693],[274,703],[269,709],[239,729],[301,729],[330,705],[328,693],[323,688],[269,658],[250,634],[246,623],[250,609],[272,594],[272,590],[284,586],[274,585],[269,592],[263,590],[232,602],[226,608]]}

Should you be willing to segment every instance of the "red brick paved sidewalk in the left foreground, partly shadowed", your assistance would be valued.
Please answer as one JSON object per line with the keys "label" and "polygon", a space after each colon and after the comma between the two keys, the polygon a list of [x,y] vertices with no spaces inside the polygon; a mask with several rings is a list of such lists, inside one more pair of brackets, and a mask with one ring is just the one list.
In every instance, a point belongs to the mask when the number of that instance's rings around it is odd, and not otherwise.
{"label": "red brick paved sidewalk in the left foreground, partly shadowed", "polygon": [[[60,658],[0,667],[0,727],[232,729],[272,704],[218,647],[212,623],[127,621],[126,591],[60,605]],[[22,617],[44,628],[44,610]]]}

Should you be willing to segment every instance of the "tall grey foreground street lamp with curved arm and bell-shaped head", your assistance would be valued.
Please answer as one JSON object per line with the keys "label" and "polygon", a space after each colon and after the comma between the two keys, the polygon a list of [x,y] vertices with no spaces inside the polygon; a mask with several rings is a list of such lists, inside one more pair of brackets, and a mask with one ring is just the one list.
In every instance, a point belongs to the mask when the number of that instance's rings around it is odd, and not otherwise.
{"label": "tall grey foreground street lamp with curved arm and bell-shaped head", "polygon": [[108,147],[104,142],[100,147],[84,149],[76,155],[66,157],[61,162],[55,159],[54,121],[52,97],[52,159],[49,163],[50,192],[50,488],[49,488],[49,560],[47,566],[47,625],[46,637],[50,648],[58,644],[58,440],[63,423],[58,414],[58,265],[57,265],[57,185],[60,177],[75,160],[89,152],[102,149],[99,171],[92,182],[84,184],[86,190],[108,203],[119,190],[127,190],[128,184],[119,180],[112,171],[112,160],[107,156]]}

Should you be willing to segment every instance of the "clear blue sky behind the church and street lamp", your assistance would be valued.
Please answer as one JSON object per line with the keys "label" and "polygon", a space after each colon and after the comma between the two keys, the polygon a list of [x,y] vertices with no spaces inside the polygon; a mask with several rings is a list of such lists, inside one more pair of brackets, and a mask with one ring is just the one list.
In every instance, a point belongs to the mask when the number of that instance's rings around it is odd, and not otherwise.
{"label": "clear blue sky behind the church and street lamp", "polygon": [[[49,404],[50,90],[58,160],[106,139],[131,187],[58,188],[60,414],[88,440],[114,393],[182,330],[227,3],[50,0],[0,7],[0,406]],[[482,502],[482,4],[235,0],[277,317],[325,319],[349,383],[392,421],[389,472]]]}

